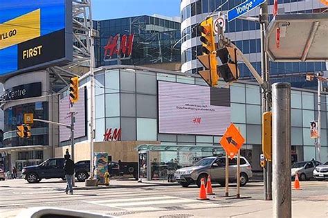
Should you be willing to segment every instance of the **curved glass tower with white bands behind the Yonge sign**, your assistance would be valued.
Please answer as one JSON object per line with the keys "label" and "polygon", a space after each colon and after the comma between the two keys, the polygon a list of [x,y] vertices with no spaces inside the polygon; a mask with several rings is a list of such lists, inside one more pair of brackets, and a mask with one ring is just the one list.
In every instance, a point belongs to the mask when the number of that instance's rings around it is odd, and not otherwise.
{"label": "curved glass tower with white bands behind the Yonge sign", "polygon": [[[296,4],[295,2],[302,2],[300,0],[281,0],[278,1],[279,8],[284,10],[284,13],[316,13],[323,12],[326,8],[322,5],[322,8],[314,8],[312,4]],[[181,10],[181,26],[185,27],[181,29],[182,43],[195,37],[199,37],[201,34],[196,28],[204,17],[201,15],[207,15],[217,7],[224,3],[224,0],[199,0],[185,6]],[[242,3],[241,0],[228,1],[221,10],[229,10]],[[291,5],[291,3],[294,3]],[[269,5],[273,5],[273,0],[268,1]],[[310,7],[309,7],[310,6]],[[288,9],[289,8],[289,9]],[[290,10],[290,11],[286,11]],[[197,16],[198,15],[198,16]],[[195,16],[195,17],[194,17]],[[273,15],[269,15],[271,20]],[[183,21],[191,19],[191,25],[183,25]],[[197,22],[194,22],[196,20]],[[259,24],[255,21],[246,21],[242,19],[235,19],[230,22],[226,22],[226,34],[237,38],[233,40],[233,43],[244,53],[250,55],[249,60],[253,64],[257,72],[261,72],[261,62],[259,59],[259,53],[261,51],[260,39],[259,39]],[[238,35],[238,36],[237,36]],[[182,44],[181,48],[181,62],[182,64],[191,63],[191,67],[188,66],[185,69],[185,73],[197,73],[202,70],[202,67],[197,64],[196,57],[201,55],[201,43],[199,39],[196,39],[196,44],[192,41],[191,46],[185,46]],[[186,48],[186,49],[185,49]],[[184,69],[184,68],[183,68]],[[306,82],[304,80],[306,73],[313,73],[318,71],[326,71],[325,62],[270,62],[271,82],[290,82],[293,87],[316,89],[316,81]],[[240,78],[244,80],[254,80],[253,75],[250,73],[245,64],[239,64]]]}

